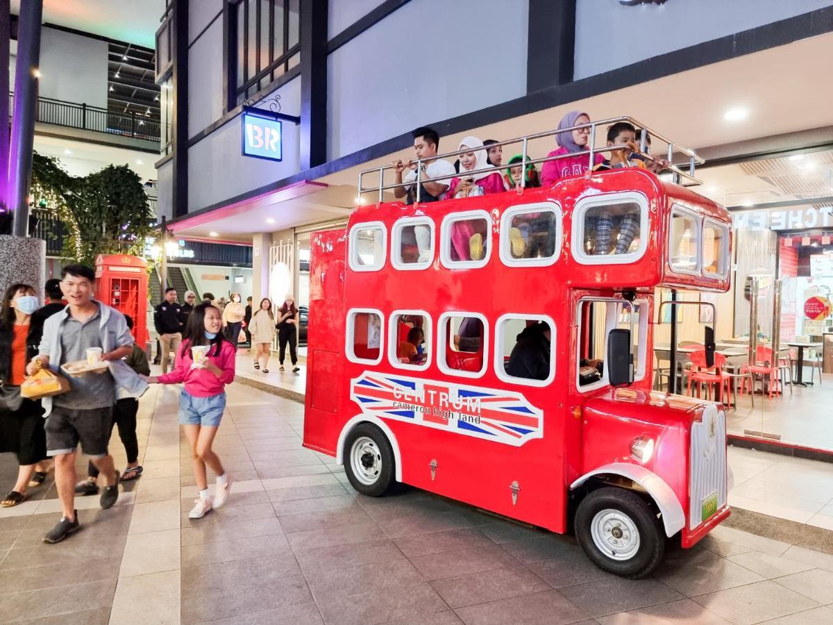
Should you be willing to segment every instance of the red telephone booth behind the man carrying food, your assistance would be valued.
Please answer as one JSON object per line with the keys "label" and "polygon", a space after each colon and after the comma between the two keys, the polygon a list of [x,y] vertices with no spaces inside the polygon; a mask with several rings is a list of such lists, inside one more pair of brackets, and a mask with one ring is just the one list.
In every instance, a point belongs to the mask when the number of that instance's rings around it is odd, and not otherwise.
{"label": "red telephone booth behind the man carrying food", "polygon": [[96,298],[133,319],[133,336],[147,343],[147,261],[126,254],[96,258]]}

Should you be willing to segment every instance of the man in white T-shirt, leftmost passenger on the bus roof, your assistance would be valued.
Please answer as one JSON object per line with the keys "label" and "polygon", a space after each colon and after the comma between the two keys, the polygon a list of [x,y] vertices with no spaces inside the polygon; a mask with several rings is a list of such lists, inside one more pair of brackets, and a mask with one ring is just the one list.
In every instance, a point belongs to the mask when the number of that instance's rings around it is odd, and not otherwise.
{"label": "man in white T-shirt, leftmost passenger on the bus roof", "polygon": [[[436,151],[440,147],[440,135],[433,128],[416,128],[412,133],[414,138],[414,152],[417,160],[422,159],[421,179],[439,178],[441,176],[453,176],[456,172],[454,166],[445,158],[436,158]],[[409,171],[404,178],[402,173],[408,168]],[[397,159],[393,162],[393,182],[402,184],[402,187],[394,187],[395,198],[407,198],[406,203],[416,202],[416,161],[402,161]],[[421,183],[420,202],[437,202],[446,197],[448,185],[451,178],[437,180],[436,182]],[[417,262],[426,263],[431,254],[431,228],[425,225],[414,226],[414,238],[416,248],[419,251]]]}

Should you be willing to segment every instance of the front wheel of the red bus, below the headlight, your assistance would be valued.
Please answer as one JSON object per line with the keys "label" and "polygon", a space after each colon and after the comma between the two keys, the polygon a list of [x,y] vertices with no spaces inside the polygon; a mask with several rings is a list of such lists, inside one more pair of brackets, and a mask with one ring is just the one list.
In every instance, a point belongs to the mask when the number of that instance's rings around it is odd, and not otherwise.
{"label": "front wheel of the red bus, below the headlight", "polygon": [[666,546],[656,512],[623,488],[600,488],[584,498],[576,538],[596,566],[631,579],[653,571]]}

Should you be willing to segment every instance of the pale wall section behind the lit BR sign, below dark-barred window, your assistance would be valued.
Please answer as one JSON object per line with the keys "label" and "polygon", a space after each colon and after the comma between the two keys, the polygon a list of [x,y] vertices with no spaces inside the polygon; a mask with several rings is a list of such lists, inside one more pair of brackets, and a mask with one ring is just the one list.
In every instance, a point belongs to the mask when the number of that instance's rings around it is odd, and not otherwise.
{"label": "pale wall section behind the lit BR sign, below dark-barred window", "polygon": [[[278,92],[282,112],[300,115],[301,78],[287,82]],[[287,178],[301,170],[300,134],[295,124],[283,122],[281,163],[242,156],[241,124],[242,117],[236,117],[188,150],[189,212]]]}

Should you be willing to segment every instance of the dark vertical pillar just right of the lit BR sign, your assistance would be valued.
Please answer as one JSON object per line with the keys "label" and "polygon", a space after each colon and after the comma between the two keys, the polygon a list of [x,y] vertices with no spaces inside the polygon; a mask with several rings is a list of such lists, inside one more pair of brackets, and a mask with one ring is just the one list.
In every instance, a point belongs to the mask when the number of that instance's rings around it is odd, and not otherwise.
{"label": "dark vertical pillar just right of the lit BR sign", "polygon": [[327,163],[327,0],[301,0],[301,168]]}

